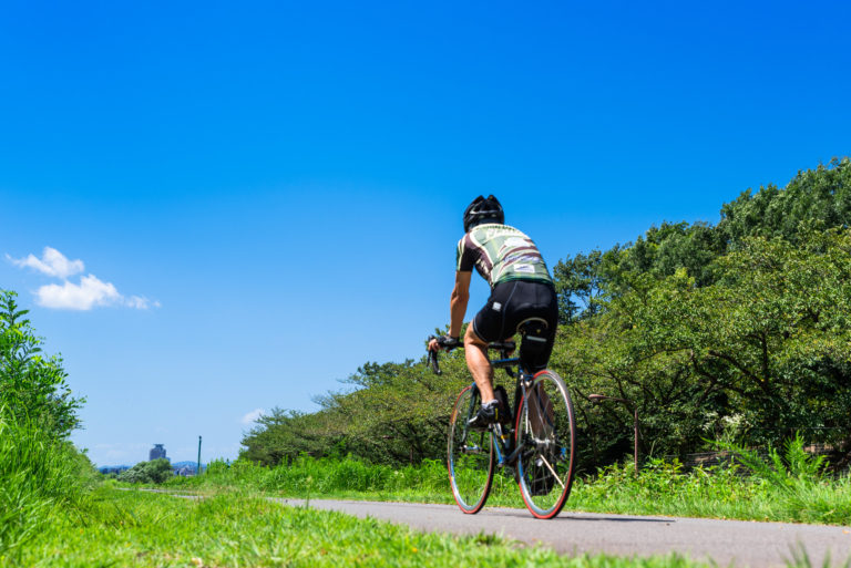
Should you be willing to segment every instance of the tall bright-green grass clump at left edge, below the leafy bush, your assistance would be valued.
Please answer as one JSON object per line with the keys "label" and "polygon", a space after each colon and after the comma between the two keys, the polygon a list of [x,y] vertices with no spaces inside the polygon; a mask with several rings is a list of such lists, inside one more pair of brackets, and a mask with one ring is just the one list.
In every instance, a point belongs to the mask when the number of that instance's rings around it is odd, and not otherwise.
{"label": "tall bright-green grass clump at left edge, below the leafy bush", "polygon": [[14,556],[58,508],[79,507],[93,483],[71,443],[0,407],[0,558]]}

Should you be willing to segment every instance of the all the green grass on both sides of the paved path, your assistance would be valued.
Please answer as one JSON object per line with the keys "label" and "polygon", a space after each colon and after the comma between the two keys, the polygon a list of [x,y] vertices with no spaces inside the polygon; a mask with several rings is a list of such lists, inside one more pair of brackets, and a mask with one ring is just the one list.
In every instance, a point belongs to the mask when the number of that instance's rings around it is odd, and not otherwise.
{"label": "all the green grass on both sides of the paved path", "polygon": [[[396,471],[353,459],[304,458],[276,468],[216,463],[203,476],[166,484],[175,493],[192,489],[203,496],[199,499],[120,490],[114,482],[92,493],[91,479],[70,445],[51,443],[37,428],[8,420],[0,430],[6,434],[0,436],[0,512],[7,515],[2,530],[13,537],[0,549],[2,567],[705,566],[676,555],[565,557],[494,536],[422,534],[340,513],[284,507],[267,498],[277,494],[447,503],[447,472],[439,462]],[[676,464],[655,462],[638,477],[628,466],[618,466],[577,482],[570,506],[848,523],[848,478],[796,479],[778,487],[729,469],[685,475]],[[521,505],[512,478],[498,477],[490,503]],[[809,565],[801,559],[793,566]]]}

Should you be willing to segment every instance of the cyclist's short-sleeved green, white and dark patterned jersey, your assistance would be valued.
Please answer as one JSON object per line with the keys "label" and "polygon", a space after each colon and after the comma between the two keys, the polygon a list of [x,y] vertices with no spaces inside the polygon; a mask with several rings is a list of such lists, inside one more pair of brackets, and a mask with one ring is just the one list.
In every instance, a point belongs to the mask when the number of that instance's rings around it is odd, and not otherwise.
{"label": "cyclist's short-sleeved green, white and dark patterned jersey", "polygon": [[473,267],[491,288],[510,280],[553,281],[534,241],[496,223],[478,225],[458,241],[455,270],[469,272]]}

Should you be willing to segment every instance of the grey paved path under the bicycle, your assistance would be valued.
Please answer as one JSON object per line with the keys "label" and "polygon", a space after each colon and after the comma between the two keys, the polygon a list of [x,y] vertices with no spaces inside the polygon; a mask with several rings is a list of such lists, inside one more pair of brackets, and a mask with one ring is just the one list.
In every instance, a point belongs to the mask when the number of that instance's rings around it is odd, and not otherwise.
{"label": "grey paved path under the bicycle", "polygon": [[[276,499],[303,506],[299,499]],[[310,506],[359,517],[403,523],[421,530],[454,534],[501,534],[524,543],[542,543],[563,554],[608,552],[622,556],[671,550],[719,566],[785,567],[790,547],[802,544],[813,567],[826,554],[834,566],[851,556],[851,528],[788,523],[752,523],[637,515],[562,512],[552,520],[533,518],[525,509],[485,508],[464,515],[453,505],[310,499]]]}

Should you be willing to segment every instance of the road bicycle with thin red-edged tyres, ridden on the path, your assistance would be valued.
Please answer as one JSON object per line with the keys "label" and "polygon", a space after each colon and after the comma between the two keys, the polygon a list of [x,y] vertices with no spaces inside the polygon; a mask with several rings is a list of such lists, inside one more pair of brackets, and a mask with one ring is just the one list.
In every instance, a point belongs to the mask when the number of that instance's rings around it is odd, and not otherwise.
{"label": "road bicycle with thin red-edged tyres, ridden on the path", "polygon": [[[522,337],[527,341],[539,339]],[[504,467],[514,475],[532,515],[553,518],[564,507],[573,484],[576,455],[573,402],[567,386],[555,372],[547,369],[533,374],[520,358],[510,358],[515,348],[514,341],[488,345],[489,350],[500,352],[500,359],[491,361],[491,365],[504,369],[515,382],[513,405],[507,404],[504,388],[494,384],[495,392],[502,391],[496,393],[504,406],[500,422],[486,430],[469,425],[481,404],[475,383],[465,386],[455,399],[447,443],[449,481],[459,508],[475,514],[488,500],[496,467]],[[441,374],[437,352],[429,351],[429,365]]]}

